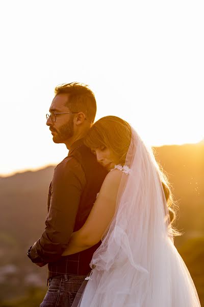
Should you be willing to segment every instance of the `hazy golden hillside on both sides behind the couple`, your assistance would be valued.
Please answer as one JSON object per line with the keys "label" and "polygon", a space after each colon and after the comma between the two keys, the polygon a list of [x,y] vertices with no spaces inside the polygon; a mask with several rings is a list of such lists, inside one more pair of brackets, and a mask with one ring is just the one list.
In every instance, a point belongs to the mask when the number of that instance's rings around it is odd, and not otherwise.
{"label": "hazy golden hillside on both sides behind the couple", "polygon": [[[176,226],[184,234],[175,238],[175,246],[204,300],[204,144],[157,147],[155,155],[180,208]],[[53,171],[50,166],[0,178],[0,306],[1,300],[25,295],[28,287],[45,286],[46,269],[34,266],[26,252],[44,229]]]}

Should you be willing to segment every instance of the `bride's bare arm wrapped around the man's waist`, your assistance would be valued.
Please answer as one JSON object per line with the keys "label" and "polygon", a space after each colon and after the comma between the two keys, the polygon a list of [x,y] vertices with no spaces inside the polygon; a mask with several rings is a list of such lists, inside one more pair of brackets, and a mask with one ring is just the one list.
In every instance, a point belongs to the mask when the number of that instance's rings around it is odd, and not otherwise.
{"label": "bride's bare arm wrapped around the man's waist", "polygon": [[83,227],[73,232],[62,256],[78,253],[97,244],[115,213],[118,188],[122,172],[114,169],[108,173],[93,208]]}

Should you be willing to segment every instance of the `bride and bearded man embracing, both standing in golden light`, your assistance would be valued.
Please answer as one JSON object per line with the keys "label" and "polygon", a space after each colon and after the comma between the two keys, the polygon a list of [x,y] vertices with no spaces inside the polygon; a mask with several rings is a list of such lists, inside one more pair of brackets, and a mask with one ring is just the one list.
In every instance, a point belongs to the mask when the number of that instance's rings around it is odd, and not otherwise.
{"label": "bride and bearded man embracing, both standing in golden light", "polygon": [[49,186],[45,230],[29,249],[48,264],[41,307],[198,307],[173,244],[168,181],[136,131],[106,116],[94,124],[93,92],[56,87],[47,125],[68,156]]}

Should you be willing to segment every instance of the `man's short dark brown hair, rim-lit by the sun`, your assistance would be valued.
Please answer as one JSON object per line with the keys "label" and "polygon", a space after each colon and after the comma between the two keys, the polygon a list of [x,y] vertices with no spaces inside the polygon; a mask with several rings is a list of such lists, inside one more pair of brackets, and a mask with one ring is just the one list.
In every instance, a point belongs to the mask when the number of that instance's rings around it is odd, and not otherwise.
{"label": "man's short dark brown hair, rim-lit by the sun", "polygon": [[66,94],[66,106],[71,112],[83,112],[86,119],[94,122],[96,115],[96,100],[87,84],[71,82],[59,84],[55,88],[55,95]]}

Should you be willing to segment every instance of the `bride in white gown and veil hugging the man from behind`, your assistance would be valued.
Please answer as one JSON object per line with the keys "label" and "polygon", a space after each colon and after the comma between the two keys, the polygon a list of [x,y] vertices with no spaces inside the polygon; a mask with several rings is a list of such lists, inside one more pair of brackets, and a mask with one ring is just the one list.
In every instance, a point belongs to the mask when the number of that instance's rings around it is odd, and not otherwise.
{"label": "bride in white gown and veil hugging the man from behind", "polygon": [[[124,120],[98,120],[85,138],[108,173],[84,226],[63,255],[100,240],[81,307],[197,307],[197,292],[173,244],[168,182],[155,157]],[[90,171],[92,171],[90,169]]]}

